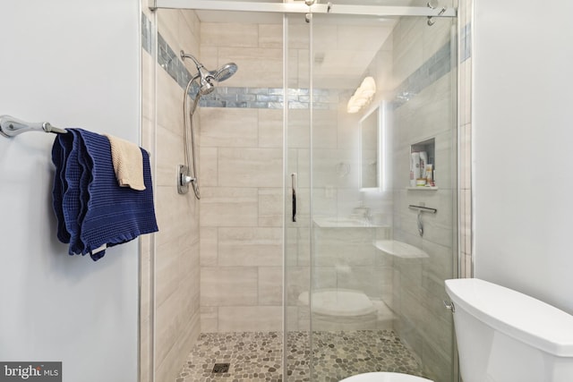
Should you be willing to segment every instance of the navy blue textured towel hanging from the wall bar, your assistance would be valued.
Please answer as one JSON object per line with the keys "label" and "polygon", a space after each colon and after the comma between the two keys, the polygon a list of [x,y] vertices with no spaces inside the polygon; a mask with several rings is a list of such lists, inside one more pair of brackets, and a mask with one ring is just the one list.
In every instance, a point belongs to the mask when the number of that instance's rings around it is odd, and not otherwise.
{"label": "navy blue textured towel hanging from the wall bar", "polygon": [[112,247],[158,231],[150,157],[144,149],[141,154],[145,190],[136,191],[118,185],[107,137],[82,129],[68,129],[68,134],[56,137],[52,157],[57,237],[70,243],[71,255],[90,253],[97,260],[105,254],[96,252],[104,244]]}

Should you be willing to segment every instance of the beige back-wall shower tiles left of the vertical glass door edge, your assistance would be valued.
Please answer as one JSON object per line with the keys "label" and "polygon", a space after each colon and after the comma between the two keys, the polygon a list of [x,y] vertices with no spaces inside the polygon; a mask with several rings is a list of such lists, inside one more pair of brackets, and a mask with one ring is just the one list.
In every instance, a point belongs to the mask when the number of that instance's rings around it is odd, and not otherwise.
{"label": "beige back-wall shower tiles left of the vertical glass door edge", "polygon": [[[282,26],[201,23],[220,86],[282,88]],[[282,109],[203,107],[201,330],[282,329]]]}

